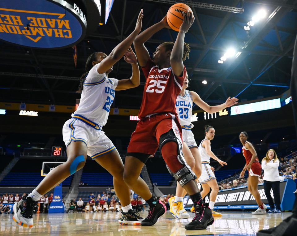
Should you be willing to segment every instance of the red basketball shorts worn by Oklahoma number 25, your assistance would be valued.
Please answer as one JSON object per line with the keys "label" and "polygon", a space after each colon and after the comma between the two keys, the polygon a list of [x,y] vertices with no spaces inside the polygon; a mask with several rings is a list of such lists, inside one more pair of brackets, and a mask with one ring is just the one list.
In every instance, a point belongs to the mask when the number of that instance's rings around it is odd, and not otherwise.
{"label": "red basketball shorts worn by Oklahoma number 25", "polygon": [[159,113],[140,120],[131,135],[127,152],[154,155],[159,147],[160,136],[170,129],[173,129],[176,137],[183,143],[182,127],[174,114]]}

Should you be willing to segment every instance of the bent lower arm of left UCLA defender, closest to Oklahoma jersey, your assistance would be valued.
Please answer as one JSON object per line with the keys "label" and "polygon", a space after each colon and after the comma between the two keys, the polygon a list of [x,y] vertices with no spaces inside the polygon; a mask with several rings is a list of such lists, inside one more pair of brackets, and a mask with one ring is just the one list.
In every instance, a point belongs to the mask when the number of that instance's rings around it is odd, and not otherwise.
{"label": "bent lower arm of left UCLA defender, closest to Oklahoma jersey", "polygon": [[132,75],[130,79],[119,80],[118,86],[115,88],[115,90],[135,88],[140,84],[140,73],[137,58],[131,47],[129,47],[129,49],[125,53],[124,60],[132,65]]}

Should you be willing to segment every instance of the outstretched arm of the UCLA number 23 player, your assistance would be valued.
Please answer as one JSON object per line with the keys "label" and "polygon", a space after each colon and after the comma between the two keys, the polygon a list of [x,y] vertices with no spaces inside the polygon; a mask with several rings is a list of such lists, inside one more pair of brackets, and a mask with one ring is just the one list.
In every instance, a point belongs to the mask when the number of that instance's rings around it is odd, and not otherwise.
{"label": "outstretched arm of the UCLA number 23 player", "polygon": [[190,94],[192,96],[193,102],[209,114],[218,112],[222,109],[225,109],[226,107],[230,107],[238,103],[238,98],[228,97],[225,103],[222,103],[221,105],[210,106],[204,102],[196,92],[190,91]]}

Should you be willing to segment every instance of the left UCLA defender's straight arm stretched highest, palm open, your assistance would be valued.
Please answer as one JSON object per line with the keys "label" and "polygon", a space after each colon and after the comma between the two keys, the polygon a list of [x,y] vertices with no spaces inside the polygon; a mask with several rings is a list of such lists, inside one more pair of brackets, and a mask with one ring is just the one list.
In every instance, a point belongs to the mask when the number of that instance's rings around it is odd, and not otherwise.
{"label": "left UCLA defender's straight arm stretched highest, palm open", "polygon": [[134,39],[139,34],[142,27],[142,18],[143,18],[142,11],[143,10],[141,9],[137,18],[134,31],[122,42],[120,42],[117,46],[115,46],[115,48],[111,51],[111,53],[106,58],[104,58],[104,60],[100,63],[97,69],[99,74],[103,74],[106,71],[108,71],[110,67],[112,67],[119,59],[123,57],[124,53],[133,43]]}

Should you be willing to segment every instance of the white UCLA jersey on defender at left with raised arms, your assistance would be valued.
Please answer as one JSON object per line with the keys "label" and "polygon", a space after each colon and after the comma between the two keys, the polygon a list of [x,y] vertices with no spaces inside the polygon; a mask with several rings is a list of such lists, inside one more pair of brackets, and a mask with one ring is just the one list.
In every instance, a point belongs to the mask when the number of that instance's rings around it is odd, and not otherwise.
{"label": "white UCLA jersey on defender at left with raised arms", "polygon": [[88,73],[81,93],[80,105],[74,115],[82,115],[89,120],[104,126],[112,102],[118,79],[107,78],[105,73],[97,71],[100,63],[96,64]]}

